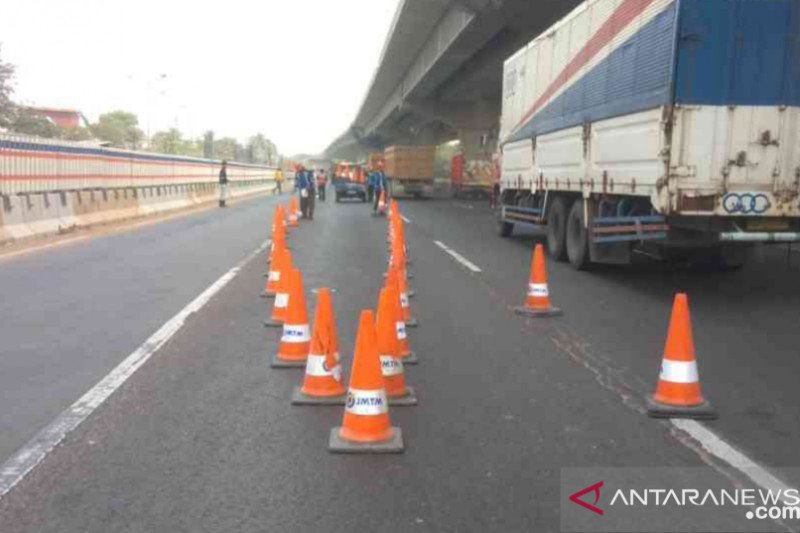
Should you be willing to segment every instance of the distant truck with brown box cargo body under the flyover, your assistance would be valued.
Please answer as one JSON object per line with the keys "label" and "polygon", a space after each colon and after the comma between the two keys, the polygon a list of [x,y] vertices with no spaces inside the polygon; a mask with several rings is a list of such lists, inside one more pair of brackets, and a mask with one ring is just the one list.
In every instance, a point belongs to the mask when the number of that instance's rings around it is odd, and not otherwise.
{"label": "distant truck with brown box cargo body under the flyover", "polygon": [[386,177],[392,194],[406,194],[416,198],[433,191],[436,147],[389,146],[384,151]]}

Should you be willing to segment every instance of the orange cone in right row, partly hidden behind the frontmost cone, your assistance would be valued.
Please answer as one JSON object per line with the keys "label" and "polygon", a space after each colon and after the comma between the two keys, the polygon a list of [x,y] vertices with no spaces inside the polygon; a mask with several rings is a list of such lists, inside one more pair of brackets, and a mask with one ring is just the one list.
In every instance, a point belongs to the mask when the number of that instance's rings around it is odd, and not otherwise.
{"label": "orange cone in right row, partly hidden behind the frontmost cone", "polygon": [[381,360],[386,395],[389,405],[417,405],[414,389],[406,385],[403,361],[397,343],[396,307],[392,300],[395,293],[382,289],[378,300],[378,354]]}

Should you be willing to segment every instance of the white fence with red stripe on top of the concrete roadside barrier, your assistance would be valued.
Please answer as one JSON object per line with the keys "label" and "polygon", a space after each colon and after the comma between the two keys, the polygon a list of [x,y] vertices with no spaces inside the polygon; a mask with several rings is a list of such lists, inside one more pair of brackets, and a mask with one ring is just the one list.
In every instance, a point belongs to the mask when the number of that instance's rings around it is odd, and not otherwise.
{"label": "white fence with red stripe on top of the concrete roadside barrier", "polygon": [[[215,183],[220,161],[0,133],[0,194]],[[228,180],[273,180],[273,167],[228,163]]]}

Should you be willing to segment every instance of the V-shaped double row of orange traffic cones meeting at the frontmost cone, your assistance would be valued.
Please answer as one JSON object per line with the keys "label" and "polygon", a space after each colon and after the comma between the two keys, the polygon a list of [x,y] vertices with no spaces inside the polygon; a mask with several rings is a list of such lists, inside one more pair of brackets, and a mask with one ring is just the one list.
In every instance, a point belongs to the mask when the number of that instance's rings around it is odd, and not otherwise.
{"label": "V-shaped double row of orange traffic cones meeting at the frontmost cone", "polygon": [[[396,259],[390,261],[377,316],[371,310],[361,313],[350,387],[345,392],[332,291],[317,291],[314,328],[309,334],[302,275],[294,268],[286,247],[281,209],[273,223],[272,259],[264,291],[265,296],[275,297],[272,316],[265,324],[283,328],[272,366],[305,367],[302,385],[292,393],[292,403],[345,405],[342,426],[331,432],[331,451],[402,451],[402,434],[389,425],[388,406],[417,403],[413,388],[405,382],[403,364],[416,362],[405,330],[416,321],[408,305],[403,255],[393,253]],[[398,267],[401,260],[402,269]]]}

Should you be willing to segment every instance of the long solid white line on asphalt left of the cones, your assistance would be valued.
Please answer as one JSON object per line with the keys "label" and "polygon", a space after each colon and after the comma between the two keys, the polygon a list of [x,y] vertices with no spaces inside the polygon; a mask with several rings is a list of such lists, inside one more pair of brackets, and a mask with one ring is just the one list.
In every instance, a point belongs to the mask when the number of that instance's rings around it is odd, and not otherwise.
{"label": "long solid white line on asphalt left of the cones", "polygon": [[161,328],[153,333],[144,344],[125,358],[106,377],[81,396],[58,417],[36,434],[25,446],[17,450],[2,467],[0,467],[0,498],[8,493],[31,470],[42,462],[50,451],[64,440],[67,434],[86,420],[114,391],[131,377],[140,366],[145,364],[164,343],[170,340],[186,322],[190,315],[205,306],[211,298],[227,285],[239,271],[256,255],[264,251],[269,241],[259,246],[238,265],[226,272],[211,284],[189,305],[170,318]]}

